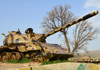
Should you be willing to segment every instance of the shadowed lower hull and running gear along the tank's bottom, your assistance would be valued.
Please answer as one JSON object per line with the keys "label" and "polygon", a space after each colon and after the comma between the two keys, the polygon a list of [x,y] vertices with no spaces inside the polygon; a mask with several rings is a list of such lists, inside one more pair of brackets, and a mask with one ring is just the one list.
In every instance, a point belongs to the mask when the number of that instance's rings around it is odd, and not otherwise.
{"label": "shadowed lower hull and running gear along the tank's bottom", "polygon": [[[16,46],[17,47],[17,46]],[[7,62],[8,60],[21,60],[28,58],[34,62],[52,61],[52,60],[67,60],[72,55],[68,54],[53,54],[50,52],[34,50],[27,52],[20,52],[16,47],[0,47],[0,61]]]}

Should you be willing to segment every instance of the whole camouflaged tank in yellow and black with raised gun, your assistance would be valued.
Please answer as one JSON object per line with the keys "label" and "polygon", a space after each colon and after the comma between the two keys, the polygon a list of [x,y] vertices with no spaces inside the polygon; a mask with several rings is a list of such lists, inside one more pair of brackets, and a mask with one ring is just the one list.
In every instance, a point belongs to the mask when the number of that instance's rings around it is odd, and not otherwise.
{"label": "whole camouflaged tank in yellow and black with raised gun", "polygon": [[98,11],[89,13],[82,18],[75,20],[69,24],[59,27],[48,34],[36,34],[32,28],[28,28],[25,33],[22,34],[20,30],[8,32],[3,41],[3,46],[0,46],[0,61],[5,62],[8,60],[22,58],[29,58],[36,62],[49,61],[49,60],[67,60],[72,57],[73,54],[69,53],[66,48],[62,48],[58,44],[46,43],[45,39],[71,25],[74,25],[82,20],[86,20],[94,15],[98,14]]}

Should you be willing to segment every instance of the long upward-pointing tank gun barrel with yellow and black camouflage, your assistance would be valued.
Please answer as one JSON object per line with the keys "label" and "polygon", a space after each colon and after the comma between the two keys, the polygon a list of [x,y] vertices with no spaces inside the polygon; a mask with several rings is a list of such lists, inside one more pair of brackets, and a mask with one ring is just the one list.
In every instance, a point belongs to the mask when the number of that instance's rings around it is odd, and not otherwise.
{"label": "long upward-pointing tank gun barrel with yellow and black camouflage", "polygon": [[59,27],[59,28],[57,28],[57,29],[49,32],[48,34],[45,34],[44,37],[46,38],[46,37],[48,37],[48,36],[50,36],[50,35],[58,32],[58,31],[61,31],[62,29],[68,28],[68,27],[70,27],[70,26],[72,26],[72,25],[74,25],[74,24],[76,24],[76,23],[78,23],[80,21],[84,21],[84,20],[86,20],[86,19],[88,19],[90,17],[93,17],[93,16],[97,15],[98,13],[99,13],[98,11],[91,12],[91,13],[89,13],[89,14],[81,17],[80,19],[75,20],[74,22],[71,22],[69,24],[66,24],[66,25],[64,25],[62,27]]}

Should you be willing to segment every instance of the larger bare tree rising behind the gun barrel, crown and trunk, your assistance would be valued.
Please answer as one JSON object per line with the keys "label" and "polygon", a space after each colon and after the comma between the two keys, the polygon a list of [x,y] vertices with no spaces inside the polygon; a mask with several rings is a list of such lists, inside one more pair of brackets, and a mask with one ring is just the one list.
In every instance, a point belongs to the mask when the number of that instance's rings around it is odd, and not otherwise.
{"label": "larger bare tree rising behind the gun barrel, crown and trunk", "polygon": [[[64,7],[59,5],[54,7],[53,10],[51,10],[50,12],[48,12],[47,16],[44,19],[44,22],[42,23],[42,27],[44,28],[43,32],[48,33],[52,30],[57,29],[58,27],[62,27],[65,24],[74,21],[73,14],[71,11],[69,11],[69,9],[69,5],[65,5]],[[67,30],[68,29],[63,29],[60,32],[64,35],[67,48],[70,52]]]}

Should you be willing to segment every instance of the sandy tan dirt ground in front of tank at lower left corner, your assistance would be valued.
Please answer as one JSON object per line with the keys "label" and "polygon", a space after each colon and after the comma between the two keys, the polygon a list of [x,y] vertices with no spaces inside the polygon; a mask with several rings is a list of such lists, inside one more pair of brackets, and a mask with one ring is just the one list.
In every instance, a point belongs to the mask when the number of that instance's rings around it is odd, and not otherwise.
{"label": "sandy tan dirt ground in front of tank at lower left corner", "polygon": [[0,62],[0,70],[7,70],[12,68],[25,68],[25,67],[33,67],[38,66],[41,63],[30,62],[30,63],[1,63]]}

